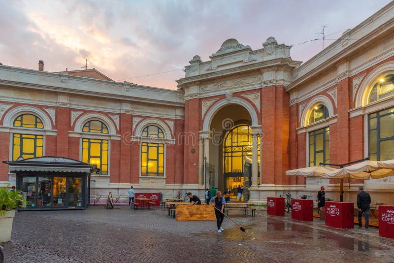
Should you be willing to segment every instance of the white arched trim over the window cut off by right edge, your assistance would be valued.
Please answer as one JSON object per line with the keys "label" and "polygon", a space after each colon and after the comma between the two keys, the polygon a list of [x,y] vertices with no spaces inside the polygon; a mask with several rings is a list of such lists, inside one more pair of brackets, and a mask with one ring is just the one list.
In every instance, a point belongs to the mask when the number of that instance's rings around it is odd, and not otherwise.
{"label": "white arched trim over the window cut off by right edge", "polygon": [[384,63],[373,69],[361,82],[356,94],[355,108],[368,104],[368,97],[374,82],[384,75],[394,74],[394,62]]}

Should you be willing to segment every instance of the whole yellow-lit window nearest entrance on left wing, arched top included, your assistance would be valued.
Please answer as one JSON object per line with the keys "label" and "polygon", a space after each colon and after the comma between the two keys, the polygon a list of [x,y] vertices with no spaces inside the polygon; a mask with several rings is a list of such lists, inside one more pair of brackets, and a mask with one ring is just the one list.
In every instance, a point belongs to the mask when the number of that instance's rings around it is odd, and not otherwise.
{"label": "whole yellow-lit window nearest entrance on left wing, arched top included", "polygon": [[152,139],[141,144],[141,176],[164,176],[164,144],[154,143],[155,138],[164,138],[162,129],[151,125],[141,135]]}

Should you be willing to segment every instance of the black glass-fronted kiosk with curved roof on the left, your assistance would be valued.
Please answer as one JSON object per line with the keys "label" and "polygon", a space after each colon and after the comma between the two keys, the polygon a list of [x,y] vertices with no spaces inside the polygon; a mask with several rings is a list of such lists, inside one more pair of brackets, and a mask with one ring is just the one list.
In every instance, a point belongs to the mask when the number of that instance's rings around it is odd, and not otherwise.
{"label": "black glass-fronted kiosk with curved roof on the left", "polygon": [[3,161],[16,174],[16,189],[28,201],[21,210],[86,209],[90,174],[97,166],[64,157]]}

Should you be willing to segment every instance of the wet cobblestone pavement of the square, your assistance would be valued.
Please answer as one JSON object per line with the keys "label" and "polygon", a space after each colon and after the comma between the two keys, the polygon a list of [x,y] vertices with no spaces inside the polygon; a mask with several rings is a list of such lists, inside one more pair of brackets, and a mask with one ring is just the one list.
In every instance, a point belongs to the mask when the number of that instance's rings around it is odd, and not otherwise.
{"label": "wet cobblestone pavement of the square", "polygon": [[19,212],[5,262],[393,262],[394,239],[378,229],[338,230],[291,217],[230,211],[224,220],[176,221],[167,210],[129,206]]}

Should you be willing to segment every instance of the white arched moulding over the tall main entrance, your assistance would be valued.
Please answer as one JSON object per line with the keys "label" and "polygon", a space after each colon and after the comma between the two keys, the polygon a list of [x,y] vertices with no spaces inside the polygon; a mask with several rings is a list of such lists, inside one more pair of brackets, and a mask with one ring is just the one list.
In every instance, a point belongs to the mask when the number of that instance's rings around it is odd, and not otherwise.
{"label": "white arched moulding over the tall main entrance", "polygon": [[257,113],[255,108],[250,104],[248,101],[240,98],[231,98],[231,101],[229,102],[228,99],[222,99],[219,100],[218,102],[214,103],[213,106],[207,111],[205,118],[204,118],[204,124],[203,124],[203,131],[209,131],[209,127],[211,126],[211,121],[215,114],[223,107],[231,105],[231,104],[236,104],[236,105],[241,105],[246,110],[249,112],[250,117],[252,119],[252,126],[257,126],[258,125],[258,118],[257,118]]}

